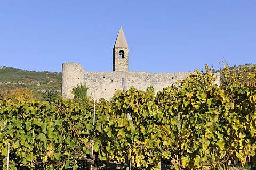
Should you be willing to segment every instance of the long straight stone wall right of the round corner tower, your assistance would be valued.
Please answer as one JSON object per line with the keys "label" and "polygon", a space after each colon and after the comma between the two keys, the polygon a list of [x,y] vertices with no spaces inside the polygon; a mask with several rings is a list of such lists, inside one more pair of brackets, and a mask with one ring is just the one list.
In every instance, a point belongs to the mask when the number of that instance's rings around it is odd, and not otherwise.
{"label": "long straight stone wall right of the round corner tower", "polygon": [[87,95],[93,96],[95,91],[96,99],[110,100],[117,90],[123,90],[123,88],[127,90],[133,86],[145,91],[147,87],[153,86],[157,92],[188,75],[189,73],[152,74],[138,71],[85,72],[85,84],[88,88]]}

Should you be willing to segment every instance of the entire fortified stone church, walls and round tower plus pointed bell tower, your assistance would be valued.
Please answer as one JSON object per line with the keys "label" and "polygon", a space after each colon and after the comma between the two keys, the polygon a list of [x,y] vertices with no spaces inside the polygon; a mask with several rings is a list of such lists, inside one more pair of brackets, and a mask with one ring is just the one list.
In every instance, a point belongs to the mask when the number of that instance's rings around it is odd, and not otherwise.
{"label": "entire fortified stone church, walls and round tower plus pointed bell tower", "polygon": [[[93,63],[92,63],[93,64]],[[178,80],[188,77],[189,72],[178,73],[149,73],[141,71],[129,71],[129,46],[122,27],[119,29],[113,48],[113,71],[90,72],[86,71],[79,63],[62,64],[61,95],[65,98],[73,98],[71,90],[80,84],[85,84],[87,96],[96,100],[104,98],[110,100],[116,91],[128,90],[130,87],[145,91],[153,86],[155,92],[164,87],[171,86]],[[217,73],[215,84],[219,84]]]}

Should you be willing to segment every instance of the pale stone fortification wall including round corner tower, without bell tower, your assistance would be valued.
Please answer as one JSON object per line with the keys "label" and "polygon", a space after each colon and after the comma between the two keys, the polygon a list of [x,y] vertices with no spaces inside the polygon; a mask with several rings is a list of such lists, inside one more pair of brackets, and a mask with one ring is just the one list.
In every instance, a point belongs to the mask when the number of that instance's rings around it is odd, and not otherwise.
{"label": "pale stone fortification wall including round corner tower, without bell tower", "polygon": [[[85,83],[87,95],[95,99],[105,98],[110,100],[117,90],[129,89],[131,86],[145,91],[153,86],[155,92],[164,87],[171,86],[178,80],[188,77],[190,73],[148,73],[138,71],[109,71],[86,72],[78,63],[64,63],[62,65],[62,96],[73,98],[70,91],[79,83]],[[219,85],[219,74],[214,82]]]}

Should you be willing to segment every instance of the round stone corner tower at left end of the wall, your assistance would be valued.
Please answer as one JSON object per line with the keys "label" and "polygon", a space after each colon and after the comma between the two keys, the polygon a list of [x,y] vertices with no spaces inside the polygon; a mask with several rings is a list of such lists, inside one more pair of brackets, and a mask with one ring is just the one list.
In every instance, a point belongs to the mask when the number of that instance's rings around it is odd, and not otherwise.
{"label": "round stone corner tower at left end of the wall", "polygon": [[65,98],[73,98],[71,90],[79,84],[84,84],[84,68],[79,63],[62,64],[61,95]]}

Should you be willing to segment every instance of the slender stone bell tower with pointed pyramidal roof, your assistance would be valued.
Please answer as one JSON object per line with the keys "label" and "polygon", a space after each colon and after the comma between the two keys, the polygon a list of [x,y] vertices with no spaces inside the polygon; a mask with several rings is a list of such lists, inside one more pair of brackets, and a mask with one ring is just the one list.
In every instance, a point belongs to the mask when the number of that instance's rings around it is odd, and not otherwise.
{"label": "slender stone bell tower with pointed pyramidal roof", "polygon": [[113,48],[113,71],[129,70],[129,46],[124,36],[122,27],[116,37]]}

